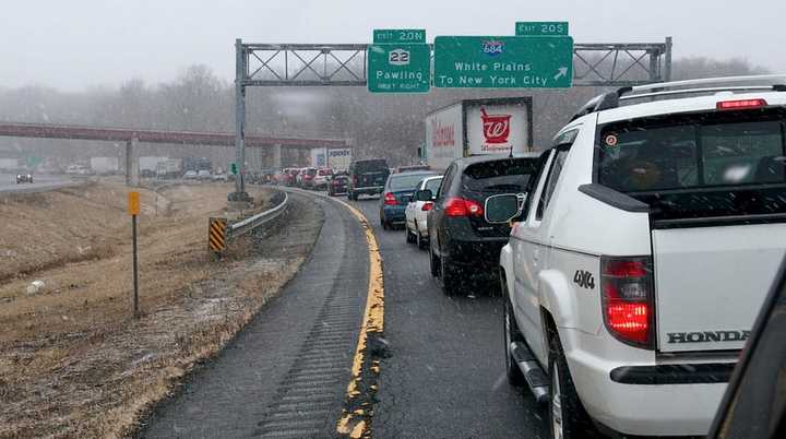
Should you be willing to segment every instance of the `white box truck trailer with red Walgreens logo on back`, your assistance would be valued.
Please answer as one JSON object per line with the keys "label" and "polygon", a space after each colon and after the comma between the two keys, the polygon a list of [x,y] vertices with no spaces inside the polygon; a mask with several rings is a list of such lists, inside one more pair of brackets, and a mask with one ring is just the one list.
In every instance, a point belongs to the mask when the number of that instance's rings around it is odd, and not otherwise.
{"label": "white box truck trailer with red Walgreens logo on back", "polygon": [[533,151],[532,97],[461,100],[426,116],[421,159],[446,169],[456,158]]}

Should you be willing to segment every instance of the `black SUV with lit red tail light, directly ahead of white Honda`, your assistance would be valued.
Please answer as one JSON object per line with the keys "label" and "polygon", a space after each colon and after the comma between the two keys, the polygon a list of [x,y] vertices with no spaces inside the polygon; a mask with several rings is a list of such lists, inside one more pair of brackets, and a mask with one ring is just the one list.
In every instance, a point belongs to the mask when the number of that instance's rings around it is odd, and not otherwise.
{"label": "black SUV with lit red tail light, directly ahead of white Honda", "polygon": [[[537,167],[537,154],[458,158],[448,167],[427,220],[431,275],[441,280],[445,294],[454,294],[476,281],[497,280],[499,254],[508,244],[510,226],[486,221],[486,199],[527,192]],[[429,190],[416,194],[424,200],[430,195]]]}

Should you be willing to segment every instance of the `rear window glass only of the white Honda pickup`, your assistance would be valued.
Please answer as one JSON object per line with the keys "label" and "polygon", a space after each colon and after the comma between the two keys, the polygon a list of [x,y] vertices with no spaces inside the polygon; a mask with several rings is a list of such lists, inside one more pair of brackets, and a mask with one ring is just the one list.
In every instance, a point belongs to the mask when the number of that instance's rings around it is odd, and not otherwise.
{"label": "rear window glass only of the white Honda pickup", "polygon": [[600,131],[598,182],[626,193],[786,182],[783,126],[774,118],[610,124]]}

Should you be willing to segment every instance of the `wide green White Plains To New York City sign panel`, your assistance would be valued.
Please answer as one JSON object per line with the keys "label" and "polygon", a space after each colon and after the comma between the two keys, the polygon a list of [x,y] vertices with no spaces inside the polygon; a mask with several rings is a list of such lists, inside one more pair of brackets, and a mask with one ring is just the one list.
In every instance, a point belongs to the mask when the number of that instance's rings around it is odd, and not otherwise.
{"label": "wide green White Plains To New York City sign panel", "polygon": [[569,36],[434,38],[436,87],[567,88],[572,83]]}

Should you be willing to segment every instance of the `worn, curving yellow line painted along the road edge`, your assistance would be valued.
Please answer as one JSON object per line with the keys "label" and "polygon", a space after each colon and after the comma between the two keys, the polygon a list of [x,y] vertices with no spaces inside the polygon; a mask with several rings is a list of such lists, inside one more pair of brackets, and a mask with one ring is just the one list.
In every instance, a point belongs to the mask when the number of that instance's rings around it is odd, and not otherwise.
{"label": "worn, curving yellow line painted along the road edge", "polygon": [[[364,406],[355,406],[357,404],[353,404],[353,402],[360,396],[361,393],[359,384],[362,379],[364,365],[368,365],[367,373],[372,373],[373,376],[379,375],[379,360],[373,359],[369,364],[366,361],[366,356],[369,355],[367,352],[369,334],[381,336],[384,329],[384,277],[382,272],[382,257],[380,256],[379,246],[377,245],[377,237],[366,215],[348,203],[341,200],[333,200],[344,204],[360,222],[366,233],[366,242],[368,244],[369,252],[369,284],[368,295],[366,297],[366,312],[364,313],[360,335],[358,336],[358,344],[353,359],[352,379],[346,390],[346,407],[336,424],[336,431],[340,435],[348,435],[350,438],[371,437],[371,429],[368,423],[371,407],[366,406],[364,408]],[[370,404],[370,402],[367,402],[367,404]],[[353,406],[355,407],[353,408]]]}

